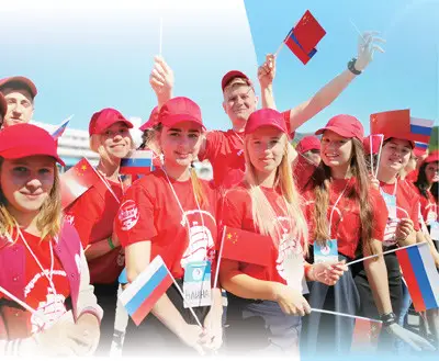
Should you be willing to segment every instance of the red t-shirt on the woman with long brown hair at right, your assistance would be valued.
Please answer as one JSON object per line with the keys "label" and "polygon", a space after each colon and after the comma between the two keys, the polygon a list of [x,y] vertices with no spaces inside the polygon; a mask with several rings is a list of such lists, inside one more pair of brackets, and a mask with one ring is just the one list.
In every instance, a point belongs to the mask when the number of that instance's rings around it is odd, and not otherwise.
{"label": "red t-shirt on the woman with long brown hair at right", "polygon": [[[361,239],[360,204],[348,195],[356,187],[356,180],[335,179],[329,183],[329,206],[327,219],[330,224],[330,237],[337,239],[338,252],[349,258],[356,258],[357,248]],[[339,199],[340,194],[341,198]],[[308,222],[309,242],[315,240],[315,193],[309,185],[303,193],[305,199],[305,214]],[[336,204],[337,200],[338,203]],[[383,240],[387,222],[387,211],[381,194],[373,188],[369,189],[369,200],[372,208],[372,238]],[[362,251],[361,249],[359,251]]]}

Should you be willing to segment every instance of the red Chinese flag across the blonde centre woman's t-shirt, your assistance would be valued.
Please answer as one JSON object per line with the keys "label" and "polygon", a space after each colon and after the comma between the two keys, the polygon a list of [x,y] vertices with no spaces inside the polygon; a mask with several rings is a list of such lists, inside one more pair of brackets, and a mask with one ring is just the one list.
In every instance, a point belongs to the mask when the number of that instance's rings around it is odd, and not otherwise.
{"label": "red Chinese flag across the blonde centre woman's t-shirt", "polygon": [[273,241],[270,236],[224,226],[221,257],[234,261],[269,266]]}

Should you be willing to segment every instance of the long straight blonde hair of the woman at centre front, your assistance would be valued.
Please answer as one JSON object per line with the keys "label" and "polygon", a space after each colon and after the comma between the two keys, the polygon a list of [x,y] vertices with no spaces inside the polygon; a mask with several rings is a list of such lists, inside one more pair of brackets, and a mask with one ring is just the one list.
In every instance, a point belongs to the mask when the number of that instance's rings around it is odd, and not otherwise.
{"label": "long straight blonde hair of the woman at centre front", "polygon": [[[293,159],[292,148],[288,143],[286,135],[282,135],[285,143],[283,158],[277,169],[274,187],[279,187],[284,204],[278,204],[286,213],[291,237],[293,239],[303,240],[304,251],[307,251],[308,244],[308,230],[305,216],[302,211],[302,198],[299,194],[291,168],[291,160]],[[274,241],[275,246],[279,246],[281,239],[281,226],[275,222],[278,215],[273,207],[268,201],[266,194],[263,194],[261,188],[258,185],[258,179],[256,169],[250,161],[248,154],[249,137],[245,138],[244,155],[246,159],[246,182],[249,185],[249,194],[251,199],[251,214],[255,226],[259,229],[262,235],[269,235]]]}

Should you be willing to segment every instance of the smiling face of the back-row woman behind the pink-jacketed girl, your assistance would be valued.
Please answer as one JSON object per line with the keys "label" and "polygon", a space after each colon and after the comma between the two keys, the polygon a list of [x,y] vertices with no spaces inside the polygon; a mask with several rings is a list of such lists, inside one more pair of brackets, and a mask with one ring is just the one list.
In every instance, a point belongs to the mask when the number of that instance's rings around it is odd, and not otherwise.
{"label": "smiling face of the back-row woman behind the pink-jacketed girl", "polygon": [[110,157],[124,158],[133,147],[130,129],[123,122],[114,123],[101,134],[102,145]]}

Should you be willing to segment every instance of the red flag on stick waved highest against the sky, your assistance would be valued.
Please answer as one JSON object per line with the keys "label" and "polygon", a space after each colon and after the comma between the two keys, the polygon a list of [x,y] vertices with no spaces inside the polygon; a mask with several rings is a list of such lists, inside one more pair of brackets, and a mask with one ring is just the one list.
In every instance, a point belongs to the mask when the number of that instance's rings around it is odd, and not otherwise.
{"label": "red flag on stick waved highest against the sky", "polygon": [[326,31],[307,10],[297,24],[288,33],[281,46],[275,52],[278,55],[283,44],[306,65],[317,53],[315,48],[319,41],[326,35]]}

